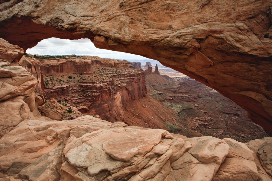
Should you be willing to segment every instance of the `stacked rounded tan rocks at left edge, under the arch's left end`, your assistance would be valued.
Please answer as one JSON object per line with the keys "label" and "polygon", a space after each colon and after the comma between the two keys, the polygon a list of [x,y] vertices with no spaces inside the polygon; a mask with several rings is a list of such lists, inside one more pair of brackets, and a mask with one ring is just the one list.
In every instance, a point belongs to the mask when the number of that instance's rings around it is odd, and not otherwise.
{"label": "stacked rounded tan rocks at left edge, under the arch's left end", "polygon": [[[38,116],[37,106],[44,103],[37,94],[37,78],[18,64],[23,56],[21,49],[0,39],[4,56],[0,55],[0,138],[24,119]],[[18,54],[21,56],[18,56]]]}

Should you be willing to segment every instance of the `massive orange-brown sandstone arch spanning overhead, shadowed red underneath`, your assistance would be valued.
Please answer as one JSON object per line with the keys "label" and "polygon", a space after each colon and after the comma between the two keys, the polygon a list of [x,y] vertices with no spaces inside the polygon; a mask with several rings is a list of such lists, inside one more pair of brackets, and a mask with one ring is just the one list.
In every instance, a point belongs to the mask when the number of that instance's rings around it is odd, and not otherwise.
{"label": "massive orange-brown sandstone arch spanning overhead, shadowed red underneath", "polygon": [[49,37],[159,60],[248,111],[272,135],[272,29],[263,1],[45,1],[0,5],[0,37],[24,50]]}

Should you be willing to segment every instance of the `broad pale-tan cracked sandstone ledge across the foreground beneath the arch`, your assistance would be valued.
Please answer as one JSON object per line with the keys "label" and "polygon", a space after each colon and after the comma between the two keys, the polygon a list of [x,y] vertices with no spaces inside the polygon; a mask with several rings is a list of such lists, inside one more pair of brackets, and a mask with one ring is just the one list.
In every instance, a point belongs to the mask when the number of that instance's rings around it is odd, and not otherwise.
{"label": "broad pale-tan cracked sandstone ledge across the foreground beneath the arch", "polygon": [[89,115],[25,119],[0,139],[0,173],[35,181],[259,179],[257,158],[245,144],[211,136],[183,138]]}

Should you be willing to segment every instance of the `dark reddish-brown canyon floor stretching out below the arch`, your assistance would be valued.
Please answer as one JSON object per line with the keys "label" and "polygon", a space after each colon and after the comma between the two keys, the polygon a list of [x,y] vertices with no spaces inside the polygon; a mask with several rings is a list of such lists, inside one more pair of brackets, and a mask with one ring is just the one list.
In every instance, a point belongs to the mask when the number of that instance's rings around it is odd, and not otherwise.
{"label": "dark reddish-brown canyon floor stretching out below the arch", "polygon": [[177,113],[176,123],[168,125],[168,131],[188,137],[201,134],[241,142],[268,136],[247,117],[246,111],[217,91],[189,77],[173,76],[178,77],[146,75],[148,94]]}

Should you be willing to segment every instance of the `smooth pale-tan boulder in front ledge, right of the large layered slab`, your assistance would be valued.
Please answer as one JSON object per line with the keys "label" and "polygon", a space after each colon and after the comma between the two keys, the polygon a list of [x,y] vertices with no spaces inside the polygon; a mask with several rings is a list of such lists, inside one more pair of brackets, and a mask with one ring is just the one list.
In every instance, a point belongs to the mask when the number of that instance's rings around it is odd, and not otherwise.
{"label": "smooth pale-tan boulder in front ledge, right of the large layered slab", "polygon": [[192,148],[178,160],[171,163],[169,180],[204,181],[212,180],[228,154],[229,146],[211,136],[188,138]]}

